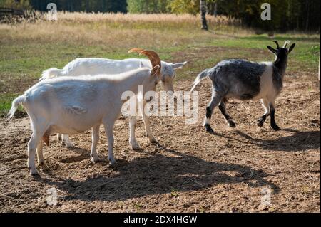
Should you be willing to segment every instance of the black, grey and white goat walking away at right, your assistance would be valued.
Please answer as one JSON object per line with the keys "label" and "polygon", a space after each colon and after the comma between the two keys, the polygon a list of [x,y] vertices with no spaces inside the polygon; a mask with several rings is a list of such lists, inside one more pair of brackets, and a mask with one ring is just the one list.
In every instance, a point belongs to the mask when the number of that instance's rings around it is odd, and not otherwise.
{"label": "black, grey and white goat walking away at right", "polygon": [[210,78],[213,84],[212,100],[206,108],[204,127],[206,131],[213,132],[210,127],[210,118],[215,107],[219,107],[226,122],[230,127],[235,127],[235,122],[225,109],[226,102],[230,98],[238,100],[261,100],[265,108],[265,114],[258,120],[258,126],[263,124],[268,116],[271,117],[273,130],[280,130],[275,123],[275,99],[283,87],[283,78],[287,68],[287,56],[295,48],[295,43],[287,49],[286,41],[280,48],[277,41],[277,49],[267,46],[275,54],[274,62],[255,63],[248,60],[223,60],[214,68],[204,70],[193,83],[192,90],[205,78]]}

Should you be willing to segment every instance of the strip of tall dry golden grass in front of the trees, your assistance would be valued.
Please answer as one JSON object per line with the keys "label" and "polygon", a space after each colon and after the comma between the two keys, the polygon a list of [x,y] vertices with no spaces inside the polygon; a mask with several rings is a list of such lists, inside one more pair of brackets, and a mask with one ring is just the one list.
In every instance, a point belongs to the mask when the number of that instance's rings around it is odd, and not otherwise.
{"label": "strip of tall dry golden grass in front of the trees", "polygon": [[[216,32],[241,30],[237,26],[237,20],[228,19],[225,16],[208,16],[208,21],[212,28],[215,27]],[[58,12],[58,21],[41,20],[35,23],[0,24],[0,43],[36,41],[40,43],[81,43],[83,45],[103,44],[119,49],[130,47],[138,43],[137,41],[139,43],[143,41],[146,47],[178,46],[213,36],[213,33],[195,34],[195,29],[198,29],[199,24],[199,17],[189,14]],[[111,47],[111,51],[113,50],[115,48]]]}

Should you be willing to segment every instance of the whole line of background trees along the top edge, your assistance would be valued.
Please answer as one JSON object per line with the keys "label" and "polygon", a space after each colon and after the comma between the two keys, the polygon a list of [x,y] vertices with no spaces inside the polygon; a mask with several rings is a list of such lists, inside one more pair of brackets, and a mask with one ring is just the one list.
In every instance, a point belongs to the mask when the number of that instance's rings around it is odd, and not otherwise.
{"label": "whole line of background trees along the top edge", "polygon": [[[50,2],[58,11],[200,14],[200,0],[0,0],[0,7],[47,11]],[[263,3],[272,7],[271,21],[260,19]],[[245,26],[263,31],[320,32],[320,0],[207,0],[206,6],[208,14],[241,19]]]}

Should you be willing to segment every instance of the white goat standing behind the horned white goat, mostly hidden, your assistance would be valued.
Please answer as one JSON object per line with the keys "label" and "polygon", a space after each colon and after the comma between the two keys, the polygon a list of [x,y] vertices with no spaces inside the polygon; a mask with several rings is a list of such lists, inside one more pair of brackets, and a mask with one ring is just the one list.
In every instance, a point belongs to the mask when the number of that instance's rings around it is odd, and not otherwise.
{"label": "white goat standing behind the horned white goat, mostly hidden", "polygon": [[[173,80],[175,78],[175,70],[183,68],[184,63],[166,63],[161,62],[161,83],[163,88],[167,92],[174,92]],[[129,70],[137,68],[151,68],[151,62],[148,59],[129,58],[124,60],[111,60],[105,58],[77,58],[68,63],[62,70],[57,68],[50,68],[45,70],[40,80],[46,80],[49,78],[56,78],[59,76],[78,76],[78,75],[99,75],[99,74],[118,74],[125,73]],[[141,105],[139,105],[141,106]],[[141,110],[143,122],[145,125],[146,135],[150,142],[156,142],[153,136],[149,124],[149,117],[145,115]],[[129,117],[130,125],[130,144],[132,149],[139,149],[138,142],[136,140],[136,117]],[[61,140],[66,144],[66,147],[73,147],[73,143],[70,141],[68,135],[58,134],[58,140]]]}

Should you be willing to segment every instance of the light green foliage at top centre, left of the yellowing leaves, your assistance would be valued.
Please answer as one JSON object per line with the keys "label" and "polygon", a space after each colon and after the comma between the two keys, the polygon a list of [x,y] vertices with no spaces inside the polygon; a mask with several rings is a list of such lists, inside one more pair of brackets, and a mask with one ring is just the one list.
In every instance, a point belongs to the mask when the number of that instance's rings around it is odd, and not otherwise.
{"label": "light green foliage at top centre, left of the yellowing leaves", "polygon": [[169,0],[127,0],[127,10],[131,14],[166,13],[169,2]]}

